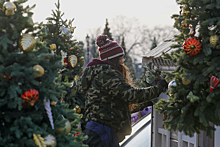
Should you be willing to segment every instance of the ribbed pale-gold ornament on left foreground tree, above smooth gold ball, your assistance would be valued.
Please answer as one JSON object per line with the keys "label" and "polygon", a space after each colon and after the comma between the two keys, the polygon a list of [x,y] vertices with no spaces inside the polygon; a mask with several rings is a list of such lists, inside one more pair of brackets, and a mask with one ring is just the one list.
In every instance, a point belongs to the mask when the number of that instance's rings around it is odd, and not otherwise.
{"label": "ribbed pale-gold ornament on left foreground tree, above smooth gold ball", "polygon": [[24,34],[22,35],[19,44],[23,51],[32,51],[36,45],[36,40],[32,35]]}

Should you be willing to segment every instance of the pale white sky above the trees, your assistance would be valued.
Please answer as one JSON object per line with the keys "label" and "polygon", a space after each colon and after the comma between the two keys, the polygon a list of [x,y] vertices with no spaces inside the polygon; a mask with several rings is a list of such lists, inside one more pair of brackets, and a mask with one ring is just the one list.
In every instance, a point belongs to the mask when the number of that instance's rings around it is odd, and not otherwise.
{"label": "pale white sky above the trees", "polygon": [[[58,0],[29,0],[26,5],[32,6],[34,22],[46,22],[55,10]],[[60,0],[61,11],[64,19],[75,18],[73,26],[76,26],[74,37],[84,40],[91,28],[105,26],[108,18],[109,27],[111,20],[117,15],[138,18],[140,23],[153,28],[158,25],[172,26],[174,20],[172,14],[179,12],[176,0]]]}

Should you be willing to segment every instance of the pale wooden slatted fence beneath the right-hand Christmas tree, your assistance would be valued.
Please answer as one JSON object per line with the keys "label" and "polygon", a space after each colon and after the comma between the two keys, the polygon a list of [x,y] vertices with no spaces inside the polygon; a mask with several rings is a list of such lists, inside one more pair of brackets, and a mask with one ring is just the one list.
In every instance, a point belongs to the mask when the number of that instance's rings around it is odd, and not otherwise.
{"label": "pale wooden slatted fence beneath the right-hand Christmas tree", "polygon": [[185,135],[183,132],[168,131],[163,128],[163,115],[160,115],[155,109],[152,110],[153,129],[151,147],[220,147],[220,127],[216,126],[213,132],[213,138],[206,136],[204,131],[200,134],[194,134],[193,137]]}

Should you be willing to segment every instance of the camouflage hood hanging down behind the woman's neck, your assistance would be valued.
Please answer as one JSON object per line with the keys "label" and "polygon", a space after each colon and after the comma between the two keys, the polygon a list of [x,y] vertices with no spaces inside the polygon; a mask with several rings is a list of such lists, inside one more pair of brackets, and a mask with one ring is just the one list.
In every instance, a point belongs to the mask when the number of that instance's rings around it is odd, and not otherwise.
{"label": "camouflage hood hanging down behind the woman's neck", "polygon": [[111,63],[99,59],[93,59],[84,69],[81,79],[81,86],[84,91],[87,91],[91,86],[94,78],[101,72],[112,69]]}

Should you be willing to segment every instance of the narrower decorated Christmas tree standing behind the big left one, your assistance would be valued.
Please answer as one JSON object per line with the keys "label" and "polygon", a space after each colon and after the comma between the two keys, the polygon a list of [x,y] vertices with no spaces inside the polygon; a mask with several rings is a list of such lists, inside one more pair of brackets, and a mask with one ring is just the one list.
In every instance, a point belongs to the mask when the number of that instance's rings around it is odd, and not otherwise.
{"label": "narrower decorated Christmas tree standing behind the big left one", "polygon": [[[60,68],[61,82],[65,82],[66,94],[62,99],[69,104],[69,108],[84,107],[84,100],[73,95],[76,93],[76,85],[79,84],[79,74],[82,72],[84,65],[84,50],[81,45],[74,39],[73,33],[76,27],[72,27],[72,20],[64,20],[64,13],[60,11],[60,2],[58,1],[56,10],[52,10],[52,17],[48,17],[46,24],[46,36],[43,40],[51,48],[55,55],[62,56],[63,67]],[[60,96],[61,97],[61,96]]]}

